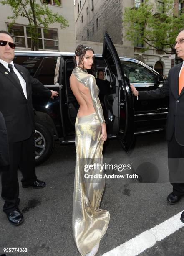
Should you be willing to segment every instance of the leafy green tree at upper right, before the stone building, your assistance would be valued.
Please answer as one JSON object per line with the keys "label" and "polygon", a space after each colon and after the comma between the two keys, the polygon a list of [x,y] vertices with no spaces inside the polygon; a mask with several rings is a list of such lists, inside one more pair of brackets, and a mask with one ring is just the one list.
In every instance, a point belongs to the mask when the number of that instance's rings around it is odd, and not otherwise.
{"label": "leafy green tree at upper right, before the stone building", "polygon": [[[173,0],[163,0],[162,5],[154,6],[145,0],[138,8],[126,8],[123,24],[126,38],[132,42],[146,43],[166,53],[174,51],[174,41],[178,31],[184,28],[184,13],[178,15]],[[158,3],[158,2],[157,2]]]}

